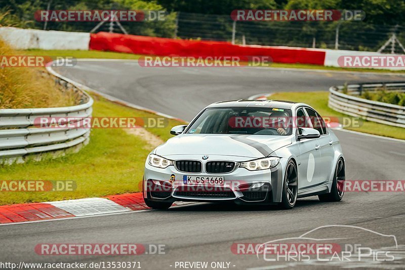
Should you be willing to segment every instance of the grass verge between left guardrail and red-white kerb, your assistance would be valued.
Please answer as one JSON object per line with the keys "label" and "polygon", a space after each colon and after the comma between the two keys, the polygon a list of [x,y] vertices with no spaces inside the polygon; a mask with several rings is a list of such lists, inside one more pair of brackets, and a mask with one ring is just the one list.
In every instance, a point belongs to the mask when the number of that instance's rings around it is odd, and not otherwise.
{"label": "grass verge between left guardrail and red-white kerb", "polygon": [[[93,95],[94,117],[156,117],[155,114],[112,103]],[[147,129],[166,141],[171,127]],[[0,166],[0,180],[74,180],[75,191],[0,192],[0,205],[46,202],[140,191],[143,168],[152,150],[143,138],[123,129],[93,129],[90,143],[74,155],[41,162]]]}

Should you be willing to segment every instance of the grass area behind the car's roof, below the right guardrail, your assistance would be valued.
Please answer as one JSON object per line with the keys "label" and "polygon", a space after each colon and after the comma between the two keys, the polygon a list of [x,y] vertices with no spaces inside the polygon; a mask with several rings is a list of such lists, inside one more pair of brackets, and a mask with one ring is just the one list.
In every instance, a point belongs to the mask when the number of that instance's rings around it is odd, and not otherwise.
{"label": "grass area behind the car's roof, below the right guardrail", "polygon": [[[300,101],[311,105],[322,117],[348,117],[348,115],[337,112],[328,107],[329,92],[284,92],[274,93],[269,99],[280,99],[289,101]],[[349,116],[350,117],[350,116]],[[350,117],[351,118],[351,117]],[[370,133],[380,136],[405,140],[405,129],[383,125],[370,121],[361,121],[360,127],[348,127],[346,129]]]}

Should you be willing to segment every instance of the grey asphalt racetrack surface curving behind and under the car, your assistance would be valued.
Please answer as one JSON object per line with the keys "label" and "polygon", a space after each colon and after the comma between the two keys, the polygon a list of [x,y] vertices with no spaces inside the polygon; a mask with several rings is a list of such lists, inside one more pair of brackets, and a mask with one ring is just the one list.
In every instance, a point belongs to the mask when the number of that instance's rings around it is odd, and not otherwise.
{"label": "grey asphalt racetrack surface curving behind and under the car", "polygon": [[[345,82],[401,81],[401,75],[331,72],[276,68],[155,68],[135,61],[79,61],[57,72],[102,93],[190,121],[206,105],[277,91],[326,91]],[[335,131],[346,158],[346,179],[405,180],[405,143]],[[339,267],[405,267],[405,194],[403,192],[346,192],[340,203],[300,199],[290,211],[266,207],[195,204],[169,211],[125,214],[0,226],[0,261],[92,262],[140,261],[143,269],[179,269],[178,262],[229,262],[230,269],[325,269]],[[264,243],[296,238],[325,225],[316,239],[350,239],[382,250],[395,260],[372,257],[361,261],[266,261],[263,255],[235,255],[233,243]],[[373,230],[362,230],[358,227]],[[392,238],[395,236],[397,249]],[[38,243],[165,244],[166,254],[139,256],[39,256]],[[316,256],[315,256],[316,257]],[[177,264],[176,264],[177,262]],[[225,263],[225,266],[227,264]],[[197,268],[195,267],[191,268]]]}

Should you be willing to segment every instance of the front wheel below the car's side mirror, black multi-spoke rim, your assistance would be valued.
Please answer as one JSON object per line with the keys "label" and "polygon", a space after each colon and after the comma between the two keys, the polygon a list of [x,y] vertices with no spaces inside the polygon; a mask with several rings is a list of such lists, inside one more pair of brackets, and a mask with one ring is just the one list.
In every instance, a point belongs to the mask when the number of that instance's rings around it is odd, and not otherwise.
{"label": "front wheel below the car's side mirror, black multi-spoke rim", "polygon": [[281,209],[292,209],[297,202],[298,195],[298,173],[297,166],[290,160],[287,164],[284,182],[282,184]]}

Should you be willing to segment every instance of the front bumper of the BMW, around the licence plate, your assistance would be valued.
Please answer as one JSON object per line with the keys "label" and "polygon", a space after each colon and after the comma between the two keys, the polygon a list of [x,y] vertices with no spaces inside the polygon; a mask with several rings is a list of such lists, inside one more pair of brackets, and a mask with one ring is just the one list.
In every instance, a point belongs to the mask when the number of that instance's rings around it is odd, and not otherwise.
{"label": "front bumper of the BMW, around the licence plate", "polygon": [[[184,176],[224,177],[224,185],[190,185]],[[173,179],[174,176],[174,179]],[[171,179],[172,178],[172,179]],[[230,173],[186,173],[175,166],[165,169],[145,165],[143,196],[159,202],[235,202],[269,204],[281,201],[282,166],[258,171],[236,168]]]}

